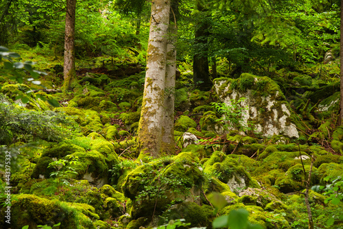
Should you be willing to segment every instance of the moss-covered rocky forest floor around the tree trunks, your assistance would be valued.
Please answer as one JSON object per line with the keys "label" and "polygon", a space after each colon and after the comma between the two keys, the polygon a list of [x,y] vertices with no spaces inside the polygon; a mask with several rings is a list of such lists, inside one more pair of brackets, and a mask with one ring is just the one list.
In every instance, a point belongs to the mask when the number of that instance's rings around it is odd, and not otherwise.
{"label": "moss-covered rocky forest floor around the tree trunks", "polygon": [[[15,51],[23,58],[30,53]],[[12,152],[15,165],[10,176],[12,228],[61,223],[60,228],[139,229],[180,218],[190,227],[211,228],[215,217],[237,208],[248,210],[250,222],[263,228],[307,228],[304,193],[309,171],[309,187],[331,184],[331,178],[343,175],[338,94],[327,89],[335,88],[338,79],[324,82],[304,74],[304,69],[280,69],[268,77],[218,78],[215,82],[222,83],[217,95],[215,90],[185,84],[191,81],[187,70],[176,82],[176,154],[138,158],[145,71],[137,62],[103,67],[102,59],[95,59],[99,60],[93,68],[77,71],[72,91],[31,93],[26,104],[17,96],[33,85],[3,78],[0,105],[8,127],[1,127],[0,146]],[[43,61],[39,55],[34,60],[48,73],[41,78],[47,88],[62,86],[58,62]],[[185,62],[179,64],[180,69],[190,69]],[[320,101],[316,91],[322,91]],[[40,100],[37,93],[58,100],[60,107]],[[249,130],[225,128],[230,121],[245,118],[236,116],[224,123],[223,115],[234,111],[220,113],[211,103],[244,93],[257,97],[257,110],[247,114],[260,119],[249,124]],[[266,112],[268,106],[274,111]],[[273,114],[287,115],[283,124],[294,125],[298,137],[283,131],[258,132],[255,127],[270,123]],[[265,125],[263,130],[268,129]],[[198,138],[196,144],[182,146],[185,132]],[[1,204],[8,186],[2,175]],[[316,191],[309,192],[315,228],[342,228],[342,202],[334,205],[326,201],[323,189]],[[213,206],[211,193],[224,197],[221,209]],[[342,187],[333,195],[342,197]],[[6,207],[1,205],[1,219]],[[327,226],[332,218],[333,224]],[[4,227],[1,220],[0,228]]]}

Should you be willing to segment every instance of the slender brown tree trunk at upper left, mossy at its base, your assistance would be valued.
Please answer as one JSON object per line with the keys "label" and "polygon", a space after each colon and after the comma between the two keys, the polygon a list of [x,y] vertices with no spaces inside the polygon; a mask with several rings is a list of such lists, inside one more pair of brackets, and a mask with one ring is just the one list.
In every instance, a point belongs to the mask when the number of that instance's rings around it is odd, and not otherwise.
{"label": "slender brown tree trunk at upper left, mossy at its base", "polygon": [[76,0],[67,0],[64,33],[64,84],[63,90],[70,90],[76,78],[75,71],[75,12]]}

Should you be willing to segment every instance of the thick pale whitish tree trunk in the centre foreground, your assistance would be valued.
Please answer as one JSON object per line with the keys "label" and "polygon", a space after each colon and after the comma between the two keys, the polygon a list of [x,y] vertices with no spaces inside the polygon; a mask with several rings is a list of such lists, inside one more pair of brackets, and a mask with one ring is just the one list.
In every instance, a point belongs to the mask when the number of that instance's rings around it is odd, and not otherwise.
{"label": "thick pale whitish tree trunk in the centre foreground", "polygon": [[141,156],[157,157],[161,150],[169,9],[169,0],[152,2],[147,71],[137,136]]}

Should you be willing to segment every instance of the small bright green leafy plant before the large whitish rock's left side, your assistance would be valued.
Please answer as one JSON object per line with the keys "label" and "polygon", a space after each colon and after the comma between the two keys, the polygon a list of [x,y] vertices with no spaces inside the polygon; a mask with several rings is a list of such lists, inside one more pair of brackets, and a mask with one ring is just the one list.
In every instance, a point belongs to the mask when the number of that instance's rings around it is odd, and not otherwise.
{"label": "small bright green leafy plant before the large whitish rock's left side", "polygon": [[252,130],[253,124],[251,121],[244,121],[244,115],[248,110],[247,107],[240,106],[241,102],[246,98],[241,97],[238,100],[231,99],[230,105],[224,103],[211,103],[211,105],[222,115],[216,121],[224,123],[224,130],[233,129],[242,130],[244,132]]}

